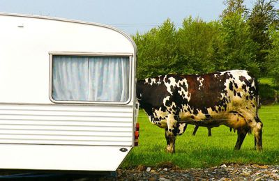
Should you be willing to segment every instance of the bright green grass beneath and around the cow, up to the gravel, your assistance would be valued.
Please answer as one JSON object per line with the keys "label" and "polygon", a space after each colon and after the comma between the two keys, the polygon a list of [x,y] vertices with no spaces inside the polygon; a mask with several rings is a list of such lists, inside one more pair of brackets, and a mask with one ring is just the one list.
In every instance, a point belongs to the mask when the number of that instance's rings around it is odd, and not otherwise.
{"label": "bright green grass beneath and around the cow, up to the gravel", "polygon": [[229,127],[220,126],[212,129],[212,136],[207,136],[207,129],[199,127],[196,136],[192,136],[193,125],[188,125],[182,136],[177,136],[176,153],[165,152],[164,129],[149,123],[144,111],[140,111],[140,146],[135,147],[122,168],[159,166],[172,162],[180,168],[206,168],[224,163],[239,164],[279,164],[279,105],[262,106],[259,118],[264,123],[263,151],[254,150],[254,136],[248,135],[241,150],[233,150],[236,132],[229,132]]}

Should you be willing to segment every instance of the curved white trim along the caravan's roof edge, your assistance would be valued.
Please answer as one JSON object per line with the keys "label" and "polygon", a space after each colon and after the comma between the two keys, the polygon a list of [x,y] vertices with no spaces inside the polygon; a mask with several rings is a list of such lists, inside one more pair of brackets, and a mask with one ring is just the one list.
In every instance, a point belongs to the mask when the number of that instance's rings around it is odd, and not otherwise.
{"label": "curved white trim along the caravan's roof edge", "polygon": [[137,45],[135,44],[133,38],[128,36],[127,33],[124,31],[121,31],[120,29],[116,29],[113,26],[106,25],[106,24],[100,24],[100,23],[95,23],[95,22],[84,22],[81,20],[76,20],[76,19],[66,19],[66,18],[61,18],[61,17],[47,17],[47,16],[40,16],[40,15],[24,15],[24,14],[17,14],[17,13],[2,13],[0,12],[0,16],[13,16],[13,17],[29,17],[29,18],[36,18],[36,19],[48,19],[48,20],[54,20],[54,21],[60,21],[60,22],[71,22],[71,23],[77,23],[77,24],[88,24],[88,25],[93,25],[93,26],[102,26],[107,29],[111,29],[113,31],[116,31],[118,33],[121,33],[123,36],[125,36],[133,45],[135,54],[137,54]]}

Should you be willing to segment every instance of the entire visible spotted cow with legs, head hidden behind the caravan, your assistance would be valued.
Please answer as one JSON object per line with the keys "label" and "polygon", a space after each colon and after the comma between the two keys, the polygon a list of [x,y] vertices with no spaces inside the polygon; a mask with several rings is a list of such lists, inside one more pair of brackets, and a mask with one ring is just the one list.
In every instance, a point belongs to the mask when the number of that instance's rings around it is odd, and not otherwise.
{"label": "entire visible spotted cow with legs, head hidden behind the caravan", "polygon": [[236,150],[252,132],[255,148],[262,150],[257,81],[246,70],[167,74],[138,81],[137,87],[140,107],[151,123],[165,129],[168,152],[174,152],[176,135],[183,134],[187,124],[209,128],[226,125],[237,130]]}

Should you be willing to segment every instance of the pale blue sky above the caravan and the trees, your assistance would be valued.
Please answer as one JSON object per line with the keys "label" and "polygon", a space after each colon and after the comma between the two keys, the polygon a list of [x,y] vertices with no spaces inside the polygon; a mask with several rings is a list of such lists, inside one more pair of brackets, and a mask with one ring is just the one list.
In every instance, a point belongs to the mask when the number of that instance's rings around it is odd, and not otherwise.
{"label": "pale blue sky above the caravan and the trees", "polygon": [[[255,0],[246,0],[248,8]],[[110,24],[128,34],[144,33],[170,18],[177,27],[185,17],[218,19],[223,0],[0,0],[0,12],[44,15]]]}

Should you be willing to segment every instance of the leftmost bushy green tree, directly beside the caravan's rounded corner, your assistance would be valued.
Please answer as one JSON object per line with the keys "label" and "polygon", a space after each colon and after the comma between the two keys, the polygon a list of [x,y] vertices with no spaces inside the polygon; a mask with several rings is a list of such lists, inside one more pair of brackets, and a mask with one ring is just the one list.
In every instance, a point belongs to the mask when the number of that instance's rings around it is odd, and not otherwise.
{"label": "leftmost bushy green tree, directly beside the caravan's rounded corner", "polygon": [[167,19],[162,26],[133,36],[137,44],[137,74],[140,79],[171,72],[177,56],[176,29]]}

